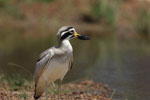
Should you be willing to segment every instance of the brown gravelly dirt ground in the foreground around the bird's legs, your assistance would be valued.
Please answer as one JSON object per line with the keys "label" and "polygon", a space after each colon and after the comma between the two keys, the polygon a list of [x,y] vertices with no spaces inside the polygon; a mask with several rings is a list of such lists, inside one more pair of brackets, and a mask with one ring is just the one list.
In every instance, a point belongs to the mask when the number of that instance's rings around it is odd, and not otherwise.
{"label": "brown gravelly dirt ground in the foreground around the bird's legs", "polygon": [[[57,100],[56,87],[53,85],[49,89],[49,100]],[[0,89],[0,100],[34,100],[33,90],[24,88],[14,91],[4,86]],[[107,85],[90,80],[63,84],[61,89],[61,100],[112,100],[111,96],[112,91]],[[45,93],[39,100],[45,100]]]}

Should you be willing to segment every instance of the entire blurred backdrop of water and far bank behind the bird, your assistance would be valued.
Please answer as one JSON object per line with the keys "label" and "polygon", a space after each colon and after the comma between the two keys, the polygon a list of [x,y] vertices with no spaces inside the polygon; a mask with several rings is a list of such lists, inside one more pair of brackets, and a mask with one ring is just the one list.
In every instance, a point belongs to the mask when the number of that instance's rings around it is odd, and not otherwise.
{"label": "entire blurred backdrop of water and far bank behind the bird", "polygon": [[32,82],[39,54],[57,45],[64,25],[91,37],[71,40],[64,83],[88,78],[111,87],[113,100],[150,100],[149,0],[0,0],[0,79]]}

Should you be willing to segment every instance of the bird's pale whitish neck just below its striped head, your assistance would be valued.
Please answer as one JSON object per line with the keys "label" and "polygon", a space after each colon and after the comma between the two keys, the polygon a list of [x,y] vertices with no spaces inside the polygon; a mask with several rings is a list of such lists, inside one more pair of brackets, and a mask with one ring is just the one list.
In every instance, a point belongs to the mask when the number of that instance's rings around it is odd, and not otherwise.
{"label": "bird's pale whitish neck just below its striped head", "polygon": [[61,49],[64,49],[64,50],[67,50],[67,51],[70,51],[70,52],[73,51],[72,46],[71,46],[69,40],[63,40],[63,41],[60,43],[60,48],[61,48]]}

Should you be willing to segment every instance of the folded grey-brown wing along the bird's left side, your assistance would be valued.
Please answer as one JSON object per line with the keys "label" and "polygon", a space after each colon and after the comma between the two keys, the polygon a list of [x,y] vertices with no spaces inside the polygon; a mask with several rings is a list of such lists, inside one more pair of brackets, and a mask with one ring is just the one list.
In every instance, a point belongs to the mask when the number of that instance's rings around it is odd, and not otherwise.
{"label": "folded grey-brown wing along the bird's left side", "polygon": [[46,65],[50,62],[52,56],[53,55],[50,49],[40,54],[40,57],[38,58],[35,67],[35,73],[34,73],[35,83],[38,82],[40,75],[43,73],[44,69],[46,68]]}

